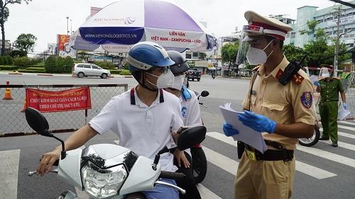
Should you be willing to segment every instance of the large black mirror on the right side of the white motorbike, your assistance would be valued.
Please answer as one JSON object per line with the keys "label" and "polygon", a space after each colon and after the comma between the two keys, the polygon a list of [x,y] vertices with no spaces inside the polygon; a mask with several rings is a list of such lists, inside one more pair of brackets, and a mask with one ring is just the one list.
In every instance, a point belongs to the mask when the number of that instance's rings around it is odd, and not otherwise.
{"label": "large black mirror on the right side of the white motorbike", "polygon": [[185,150],[201,143],[206,136],[206,132],[207,130],[204,126],[188,127],[183,130],[178,138],[178,149]]}

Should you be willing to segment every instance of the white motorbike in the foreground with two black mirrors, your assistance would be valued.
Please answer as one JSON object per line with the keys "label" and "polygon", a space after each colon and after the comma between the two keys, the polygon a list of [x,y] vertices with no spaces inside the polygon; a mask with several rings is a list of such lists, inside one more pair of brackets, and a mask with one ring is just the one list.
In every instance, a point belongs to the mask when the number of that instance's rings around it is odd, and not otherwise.
{"label": "white motorbike in the foreground with two black mirrors", "polygon": [[[90,198],[123,198],[129,193],[147,191],[156,185],[175,188],[182,194],[185,190],[170,183],[159,181],[159,178],[181,179],[184,174],[161,171],[160,154],[171,152],[176,148],[184,150],[202,142],[206,135],[206,127],[188,127],[182,129],[177,146],[173,149],[164,147],[155,159],[138,156],[130,149],[116,144],[94,144],[85,149],[74,149],[65,152],[62,140],[49,131],[48,121],[38,110],[27,108],[28,125],[46,137],[53,137],[62,143],[60,159],[54,164],[58,166],[50,172],[58,174],[62,181],[80,188]],[[33,176],[36,171],[28,172]],[[78,199],[75,193],[63,191],[58,199]]]}

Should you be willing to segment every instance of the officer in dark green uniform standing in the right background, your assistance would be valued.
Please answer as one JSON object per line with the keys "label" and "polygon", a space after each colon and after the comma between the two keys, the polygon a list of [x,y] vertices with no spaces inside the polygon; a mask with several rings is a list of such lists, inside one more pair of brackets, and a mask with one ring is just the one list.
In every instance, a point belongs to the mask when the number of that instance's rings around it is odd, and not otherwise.
{"label": "officer in dark green uniform standing in the right background", "polygon": [[338,101],[339,92],[343,101],[343,108],[346,110],[345,91],[342,86],[342,81],[337,77],[331,77],[329,73],[333,72],[330,69],[323,68],[322,71],[329,70],[322,74],[323,79],[315,81],[317,91],[320,92],[320,120],[322,122],[323,133],[320,140],[332,140],[332,146],[338,147]]}

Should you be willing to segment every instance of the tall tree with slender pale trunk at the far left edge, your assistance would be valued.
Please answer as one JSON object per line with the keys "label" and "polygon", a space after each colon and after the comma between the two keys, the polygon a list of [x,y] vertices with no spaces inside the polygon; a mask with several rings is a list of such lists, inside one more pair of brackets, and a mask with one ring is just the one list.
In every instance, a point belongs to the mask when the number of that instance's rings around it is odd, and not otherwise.
{"label": "tall tree with slender pale trunk at the far left edge", "polygon": [[28,4],[28,2],[32,0],[0,0],[0,26],[2,35],[1,55],[3,56],[5,55],[5,22],[10,14],[7,6],[9,6],[9,4],[21,4],[22,1]]}

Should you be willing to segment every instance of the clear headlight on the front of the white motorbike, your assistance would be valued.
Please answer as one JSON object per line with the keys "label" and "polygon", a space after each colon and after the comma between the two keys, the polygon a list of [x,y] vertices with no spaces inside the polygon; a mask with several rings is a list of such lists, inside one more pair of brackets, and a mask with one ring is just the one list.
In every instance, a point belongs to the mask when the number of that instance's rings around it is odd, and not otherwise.
{"label": "clear headlight on the front of the white motorbike", "polygon": [[100,169],[91,161],[82,167],[84,190],[95,198],[116,195],[127,178],[123,164],[108,169]]}

